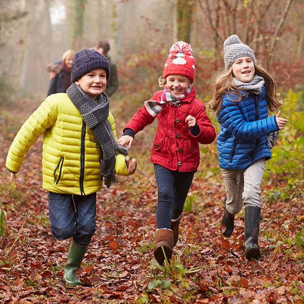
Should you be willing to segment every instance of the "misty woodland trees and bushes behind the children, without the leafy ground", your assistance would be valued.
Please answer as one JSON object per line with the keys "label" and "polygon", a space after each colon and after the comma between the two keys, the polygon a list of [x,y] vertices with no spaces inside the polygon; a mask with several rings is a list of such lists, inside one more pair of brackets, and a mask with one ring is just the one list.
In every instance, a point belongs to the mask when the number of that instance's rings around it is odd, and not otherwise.
{"label": "misty woodland trees and bushes behind the children, without the leafy ground", "polygon": [[[110,110],[121,134],[143,101],[160,89],[158,78],[174,42],[193,46],[194,86],[207,104],[212,79],[223,69],[223,42],[238,34],[273,74],[284,100],[282,116],[290,122],[267,163],[264,182],[278,186],[269,196],[287,198],[303,189],[304,0],[0,0],[0,11],[1,151],[21,125],[14,110],[43,101],[50,81],[46,65],[67,49],[109,41],[120,81]],[[216,118],[211,120],[218,131]],[[156,124],[136,135],[139,170],[153,170],[149,155]],[[220,178],[216,143],[200,149],[204,161],[198,174]]]}

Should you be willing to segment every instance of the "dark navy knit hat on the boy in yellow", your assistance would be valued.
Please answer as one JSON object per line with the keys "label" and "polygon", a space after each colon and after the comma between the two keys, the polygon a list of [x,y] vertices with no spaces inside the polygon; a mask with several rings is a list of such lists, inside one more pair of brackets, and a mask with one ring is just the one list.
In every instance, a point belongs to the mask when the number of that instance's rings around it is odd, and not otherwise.
{"label": "dark navy knit hat on the boy in yellow", "polygon": [[109,80],[110,65],[102,54],[93,49],[84,49],[77,52],[73,58],[71,81],[77,81],[84,74],[95,68],[104,68],[106,80]]}

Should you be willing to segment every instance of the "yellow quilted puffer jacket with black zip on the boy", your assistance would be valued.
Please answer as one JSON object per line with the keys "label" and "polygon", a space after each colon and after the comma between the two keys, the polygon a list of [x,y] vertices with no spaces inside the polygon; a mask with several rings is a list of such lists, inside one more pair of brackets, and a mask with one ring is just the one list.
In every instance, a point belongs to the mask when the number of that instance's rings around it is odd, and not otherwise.
{"label": "yellow quilted puffer jacket with black zip on the boy", "polygon": [[[111,113],[108,120],[117,139]],[[48,96],[23,124],[9,149],[6,167],[18,172],[24,155],[43,133],[43,188],[76,195],[99,191],[100,146],[66,93]],[[125,156],[117,156],[115,171],[129,174]]]}

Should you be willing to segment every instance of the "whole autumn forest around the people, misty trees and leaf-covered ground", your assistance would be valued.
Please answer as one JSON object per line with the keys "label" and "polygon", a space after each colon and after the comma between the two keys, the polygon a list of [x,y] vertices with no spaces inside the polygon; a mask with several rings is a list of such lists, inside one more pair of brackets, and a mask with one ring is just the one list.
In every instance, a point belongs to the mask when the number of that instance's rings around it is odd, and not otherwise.
{"label": "whole autumn forest around the people, misty trees and leaf-covered ground", "polygon": [[[0,10],[2,302],[304,302],[303,0],[0,0]],[[154,263],[157,191],[149,154],[155,122],[136,136],[130,151],[138,160],[136,174],[98,194],[99,230],[80,273],[85,287],[65,289],[68,243],[50,235],[47,193],[41,188],[42,139],[30,149],[18,182],[9,182],[5,168],[11,141],[45,98],[46,65],[67,49],[109,41],[120,80],[110,110],[121,135],[137,108],[159,90],[158,78],[177,40],[193,46],[194,86],[207,104],[212,79],[223,69],[223,42],[231,34],[272,73],[284,101],[282,117],[289,120],[261,186],[263,258],[244,259],[242,213],[235,238],[219,233],[224,190],[214,142],[200,147],[181,245],[170,265]],[[211,119],[218,133],[216,118]]]}

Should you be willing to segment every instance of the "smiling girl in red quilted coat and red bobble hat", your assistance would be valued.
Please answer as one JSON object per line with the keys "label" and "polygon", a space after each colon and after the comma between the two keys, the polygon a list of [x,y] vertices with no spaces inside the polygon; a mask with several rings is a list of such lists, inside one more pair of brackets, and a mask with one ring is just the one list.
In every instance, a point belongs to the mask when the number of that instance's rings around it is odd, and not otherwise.
{"label": "smiling girl in red quilted coat and red bobble hat", "polygon": [[206,107],[192,86],[195,77],[192,51],[191,45],[183,41],[172,45],[163,77],[159,79],[164,91],[157,91],[144,102],[118,141],[130,148],[135,134],[158,119],[151,163],[158,186],[154,256],[160,264],[165,260],[163,249],[170,259],[178,241],[183,205],[200,163],[199,143],[211,143],[216,136]]}

